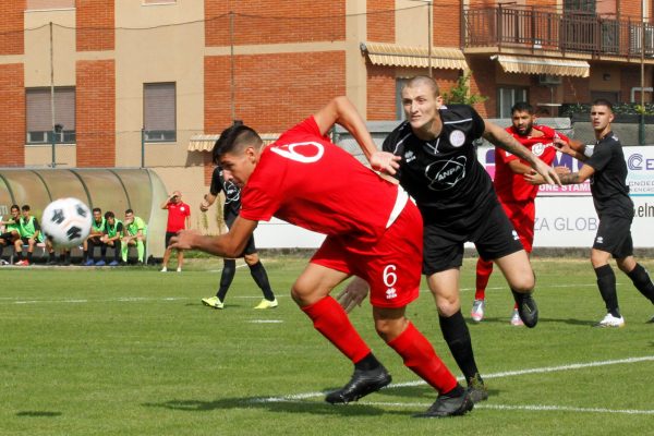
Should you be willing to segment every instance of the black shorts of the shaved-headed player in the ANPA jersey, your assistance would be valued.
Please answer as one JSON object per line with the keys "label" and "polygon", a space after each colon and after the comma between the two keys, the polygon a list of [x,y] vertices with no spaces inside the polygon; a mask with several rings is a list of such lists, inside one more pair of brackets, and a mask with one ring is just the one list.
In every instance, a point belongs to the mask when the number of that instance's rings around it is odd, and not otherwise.
{"label": "black shorts of the shaved-headed player in the ANPA jersey", "polygon": [[426,276],[459,268],[463,264],[463,244],[468,241],[474,243],[485,261],[524,250],[499,203],[493,205],[477,226],[465,233],[455,233],[427,222],[424,226],[423,274]]}

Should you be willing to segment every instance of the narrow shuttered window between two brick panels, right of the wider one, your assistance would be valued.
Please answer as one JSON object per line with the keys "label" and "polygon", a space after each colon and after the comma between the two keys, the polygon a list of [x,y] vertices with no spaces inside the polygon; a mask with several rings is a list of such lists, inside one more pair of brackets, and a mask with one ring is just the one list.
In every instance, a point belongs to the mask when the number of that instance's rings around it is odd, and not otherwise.
{"label": "narrow shuttered window between two brick panels, right of the wider one", "polygon": [[146,142],[177,141],[174,83],[143,85],[143,129]]}

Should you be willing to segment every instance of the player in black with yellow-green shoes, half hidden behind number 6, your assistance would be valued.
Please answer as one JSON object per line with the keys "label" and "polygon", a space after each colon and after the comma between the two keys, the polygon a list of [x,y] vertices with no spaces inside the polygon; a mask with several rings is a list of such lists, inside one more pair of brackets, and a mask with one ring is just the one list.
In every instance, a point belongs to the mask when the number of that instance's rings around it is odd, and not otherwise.
{"label": "player in black with yellow-green shoes, half hidden behind number 6", "polygon": [[[214,169],[214,173],[211,174],[209,193],[205,195],[204,201],[201,203],[199,210],[207,211],[220,192],[225,192],[225,207],[222,209],[222,217],[227,223],[227,227],[231,227],[239,216],[239,210],[241,209],[241,190],[232,181],[226,182],[222,177],[222,168],[216,167]],[[250,241],[247,241],[247,245],[245,246],[242,255],[245,259],[245,263],[250,267],[250,274],[252,275],[252,278],[262,289],[264,294],[264,299],[254,308],[277,307],[277,299],[275,298],[275,293],[272,293],[272,289],[270,289],[270,282],[268,281],[266,268],[264,268],[264,265],[261,263],[256,252],[256,246],[254,245],[254,237],[250,238]],[[218,288],[216,296],[202,299],[202,302],[205,305],[214,308],[223,308],[225,296],[227,295],[227,291],[234,279],[235,272],[237,261],[226,258],[223,261],[222,275],[220,276],[220,288]]]}

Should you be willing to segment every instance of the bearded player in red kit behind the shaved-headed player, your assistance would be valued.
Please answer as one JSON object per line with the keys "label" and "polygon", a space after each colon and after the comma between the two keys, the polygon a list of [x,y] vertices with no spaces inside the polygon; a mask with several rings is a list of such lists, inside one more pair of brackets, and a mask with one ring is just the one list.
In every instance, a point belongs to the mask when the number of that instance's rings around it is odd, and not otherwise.
{"label": "bearded player in red kit behind the shaved-headed player", "polygon": [[[545,164],[552,165],[557,150],[554,140],[561,138],[566,142],[569,140],[546,125],[535,125],[535,119],[534,108],[531,105],[524,101],[517,102],[511,108],[512,125],[506,131]],[[556,170],[562,172],[564,168],[556,168]],[[495,180],[493,181],[495,192],[528,254],[532,252],[534,242],[535,199],[538,193],[538,186],[524,180],[524,174],[531,171],[529,162],[502,148],[495,148]],[[484,318],[486,286],[492,272],[493,262],[480,257],[476,265],[476,291],[471,311],[472,319],[477,323]],[[524,325],[518,314],[517,305],[513,306],[511,325]]]}

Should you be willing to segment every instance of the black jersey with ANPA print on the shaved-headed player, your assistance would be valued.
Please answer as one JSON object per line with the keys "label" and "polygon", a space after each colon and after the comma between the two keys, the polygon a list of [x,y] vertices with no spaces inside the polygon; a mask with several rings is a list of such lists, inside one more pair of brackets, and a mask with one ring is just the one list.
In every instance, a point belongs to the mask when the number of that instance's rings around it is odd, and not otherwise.
{"label": "black jersey with ANPA print on the shaved-headed player", "polygon": [[473,144],[484,133],[484,120],[467,105],[448,106],[439,114],[438,137],[423,141],[403,122],[383,149],[402,158],[396,178],[415,199],[425,225],[456,232],[475,226],[498,201]]}

